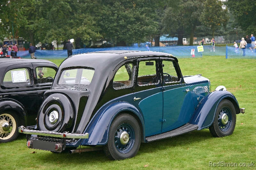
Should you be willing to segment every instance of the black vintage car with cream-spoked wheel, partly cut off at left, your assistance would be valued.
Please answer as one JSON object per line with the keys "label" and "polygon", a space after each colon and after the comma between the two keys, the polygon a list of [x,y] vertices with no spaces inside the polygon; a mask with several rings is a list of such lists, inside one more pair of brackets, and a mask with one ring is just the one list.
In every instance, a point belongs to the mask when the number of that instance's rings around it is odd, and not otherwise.
{"label": "black vintage car with cream-spoked wheel, partly cut off at left", "polygon": [[20,125],[35,126],[57,69],[47,60],[0,59],[0,142],[16,139]]}

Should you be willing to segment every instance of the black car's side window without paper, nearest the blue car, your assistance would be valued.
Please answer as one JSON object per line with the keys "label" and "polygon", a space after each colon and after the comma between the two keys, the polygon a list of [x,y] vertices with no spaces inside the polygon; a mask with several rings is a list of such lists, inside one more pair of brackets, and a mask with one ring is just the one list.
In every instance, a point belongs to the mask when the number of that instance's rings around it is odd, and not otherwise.
{"label": "black car's side window without paper, nearest the blue car", "polygon": [[52,83],[56,71],[50,67],[36,67],[37,83]]}

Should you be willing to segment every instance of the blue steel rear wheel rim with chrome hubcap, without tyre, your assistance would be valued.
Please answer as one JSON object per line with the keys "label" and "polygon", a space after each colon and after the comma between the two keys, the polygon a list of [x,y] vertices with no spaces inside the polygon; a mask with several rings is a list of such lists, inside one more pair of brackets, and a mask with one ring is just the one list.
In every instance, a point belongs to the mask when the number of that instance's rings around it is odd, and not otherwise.
{"label": "blue steel rear wheel rim with chrome hubcap, without tyre", "polygon": [[[133,145],[134,145],[134,130],[131,125],[124,123],[121,124],[117,129],[114,134],[114,143],[116,146],[116,149],[120,153],[128,153],[131,151]],[[121,137],[121,138],[120,138]],[[123,138],[122,138],[123,137]],[[128,142],[126,138],[128,137]],[[125,139],[124,139],[125,138]],[[123,144],[125,143],[125,144]]]}

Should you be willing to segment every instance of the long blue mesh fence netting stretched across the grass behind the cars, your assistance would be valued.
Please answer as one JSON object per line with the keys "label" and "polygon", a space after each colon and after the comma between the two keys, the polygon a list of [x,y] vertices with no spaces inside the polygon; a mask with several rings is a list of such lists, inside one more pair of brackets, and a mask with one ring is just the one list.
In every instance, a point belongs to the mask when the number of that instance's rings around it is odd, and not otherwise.
{"label": "long blue mesh fence netting stretched across the grass behind the cars", "polygon": [[[243,57],[243,51],[240,49],[240,53],[235,53],[235,47],[215,47],[204,46],[204,52],[197,52],[197,46],[168,46],[168,47],[149,47],[150,51],[164,52],[172,54],[177,58],[191,58],[191,50],[195,50],[195,57],[221,55],[226,58],[256,58],[256,53],[252,53],[250,49],[246,49],[245,57]],[[82,54],[95,51],[106,51],[106,50],[135,50],[135,51],[147,51],[146,47],[112,47],[112,48],[81,48],[73,49],[74,54]],[[30,58],[28,51],[19,51],[18,56],[23,58]],[[67,58],[67,50],[36,50],[35,56],[37,58]]]}

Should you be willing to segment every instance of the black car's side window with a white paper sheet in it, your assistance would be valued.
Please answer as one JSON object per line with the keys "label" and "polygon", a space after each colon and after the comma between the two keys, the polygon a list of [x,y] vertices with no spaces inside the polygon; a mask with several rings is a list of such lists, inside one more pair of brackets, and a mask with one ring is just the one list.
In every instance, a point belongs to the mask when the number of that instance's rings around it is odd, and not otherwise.
{"label": "black car's side window with a white paper sheet in it", "polygon": [[20,68],[7,71],[4,75],[3,85],[6,87],[31,85],[29,69]]}

